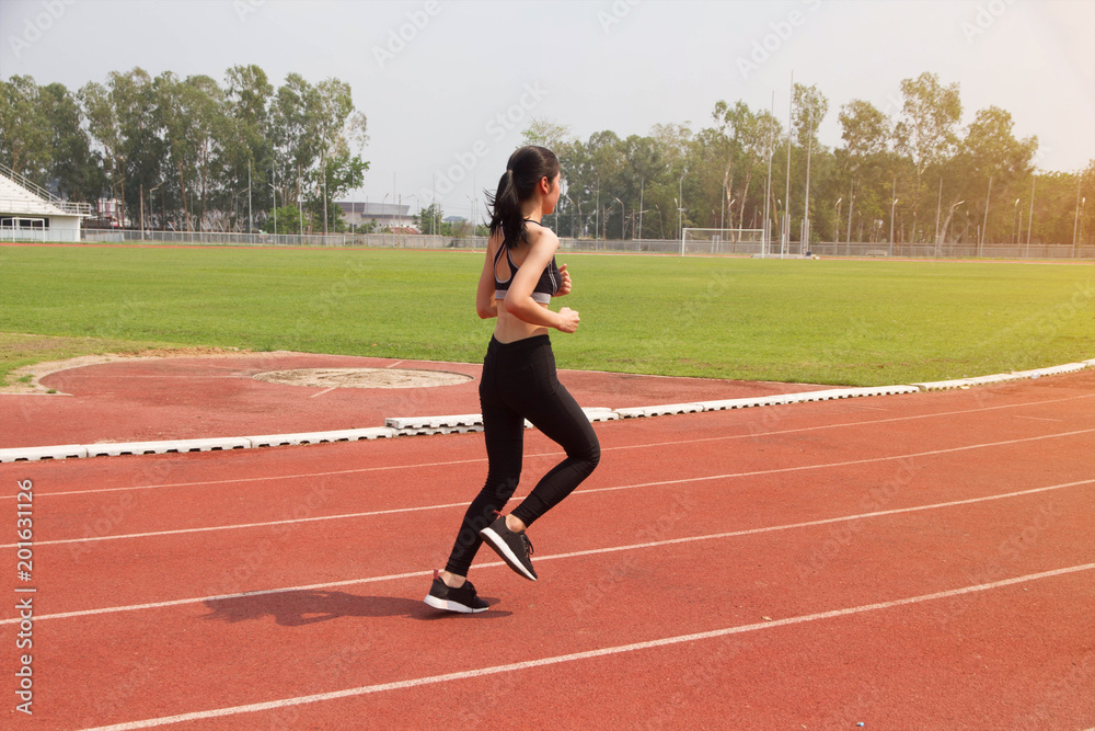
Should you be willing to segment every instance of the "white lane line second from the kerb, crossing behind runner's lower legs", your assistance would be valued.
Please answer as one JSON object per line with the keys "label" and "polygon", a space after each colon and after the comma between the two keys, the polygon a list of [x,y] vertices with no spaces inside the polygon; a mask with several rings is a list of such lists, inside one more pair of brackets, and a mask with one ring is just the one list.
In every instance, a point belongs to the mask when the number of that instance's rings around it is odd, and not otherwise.
{"label": "white lane line second from the kerb, crossing behind runner's lower legs", "polygon": [[[637,488],[655,488],[667,484],[685,484],[691,482],[710,482],[713,480],[731,480],[742,477],[760,477],[765,475],[779,475],[782,472],[797,472],[803,470],[815,470],[815,469],[830,469],[834,467],[851,467],[854,465],[867,465],[880,461],[895,461],[904,459],[914,459],[917,457],[931,457],[940,454],[950,454],[955,452],[967,452],[969,449],[983,449],[988,447],[999,447],[1010,444],[1017,444],[1023,442],[1037,442],[1040,439],[1050,439],[1058,436],[1073,436],[1075,434],[1087,434],[1095,432],[1095,429],[1080,430],[1076,432],[1063,432],[1060,434],[1047,434],[1042,436],[1028,436],[1021,439],[1007,439],[1005,442],[989,442],[984,444],[973,444],[964,447],[950,447],[948,449],[932,449],[930,452],[917,452],[907,455],[894,455],[890,457],[867,457],[865,459],[851,459],[846,461],[839,462],[825,462],[821,465],[800,465],[797,467],[777,467],[773,469],[754,470],[751,472],[727,472],[723,475],[707,475],[703,477],[685,477],[678,478],[676,480],[658,480],[655,482],[638,482],[635,484],[621,484],[612,488],[590,488],[586,490],[575,490],[572,494],[592,494],[597,492],[615,492],[619,490],[635,490]],[[518,500],[518,498],[512,498],[510,500]],[[370,515],[388,515],[392,513],[407,513],[419,510],[438,510],[442,507],[463,507],[465,503],[446,503],[440,505],[424,505],[420,507],[393,507],[382,511],[369,511],[365,513],[341,513],[337,515],[322,515],[316,517],[302,517],[302,518],[290,518],[286,521],[267,521],[262,523],[240,523],[235,525],[216,525],[216,526],[205,526],[199,528],[175,528],[172,530],[154,530],[148,533],[127,533],[118,534],[112,536],[89,536],[85,538],[58,538],[56,540],[37,540],[36,546],[53,546],[60,544],[88,544],[95,542],[100,540],[120,540],[123,538],[149,538],[153,536],[175,536],[189,533],[209,533],[214,530],[239,530],[242,528],[258,528],[264,526],[275,526],[275,525],[293,525],[298,523],[312,523],[315,521],[336,521],[343,518],[355,518],[355,517],[367,517]],[[16,548],[18,544],[0,544],[0,548]]]}

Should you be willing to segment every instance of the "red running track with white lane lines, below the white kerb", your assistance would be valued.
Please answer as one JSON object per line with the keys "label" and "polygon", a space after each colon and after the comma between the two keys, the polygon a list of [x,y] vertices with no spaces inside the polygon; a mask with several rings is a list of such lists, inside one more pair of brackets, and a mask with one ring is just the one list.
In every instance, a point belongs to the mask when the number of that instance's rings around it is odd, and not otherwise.
{"label": "red running track with white lane lines, below the white kerb", "polygon": [[422,598],[481,434],[0,466],[5,726],[1095,726],[1095,372],[596,429],[541,581],[481,552],[472,616]]}

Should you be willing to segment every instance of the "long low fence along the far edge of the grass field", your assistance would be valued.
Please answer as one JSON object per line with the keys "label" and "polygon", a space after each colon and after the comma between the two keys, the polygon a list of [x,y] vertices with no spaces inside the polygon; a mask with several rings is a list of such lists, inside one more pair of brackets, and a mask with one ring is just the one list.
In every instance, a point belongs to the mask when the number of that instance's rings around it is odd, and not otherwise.
{"label": "long low fence along the far edge of the grass field", "polygon": [[[3,232],[0,231],[0,238]],[[33,239],[41,240],[41,239]],[[53,240],[53,239],[50,239]],[[143,243],[178,243],[234,247],[364,247],[372,249],[485,249],[486,238],[481,236],[452,238],[429,236],[425,233],[330,233],[293,235],[279,233],[223,233],[217,231],[135,231],[120,229],[84,229],[83,240],[87,242],[143,242]],[[724,254],[751,256],[761,253],[759,243],[712,244],[717,249],[705,251],[698,242],[689,242],[689,254]],[[773,242],[773,249],[779,250],[779,242]],[[679,239],[560,239],[560,251],[581,252],[621,252],[621,253],[660,253],[676,254],[681,252]],[[803,254],[802,247],[792,242],[792,256]],[[1083,259],[1095,260],[1095,247],[1075,249],[1068,244],[895,244],[888,243],[815,243],[809,253],[818,256],[857,256],[885,258],[901,256],[917,259]]]}

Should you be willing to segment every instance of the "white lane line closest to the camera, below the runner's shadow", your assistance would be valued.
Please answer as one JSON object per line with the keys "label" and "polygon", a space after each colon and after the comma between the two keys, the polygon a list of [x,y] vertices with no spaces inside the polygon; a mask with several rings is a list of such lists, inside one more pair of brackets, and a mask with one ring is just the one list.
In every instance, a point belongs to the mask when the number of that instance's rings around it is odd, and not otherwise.
{"label": "white lane line closest to the camera, below the runner's shadow", "polygon": [[424,677],[414,677],[405,681],[395,681],[393,683],[378,683],[376,685],[362,685],[356,688],[346,688],[345,690],[318,693],[310,696],[297,696],[295,698],[281,698],[279,700],[268,700],[265,703],[247,704],[243,706],[230,706],[227,708],[217,708],[212,710],[193,711],[189,713],[180,713],[177,716],[163,716],[160,718],[150,718],[142,721],[130,721],[128,723],[115,723],[113,726],[103,726],[103,727],[97,727],[95,729],[88,729],[85,731],[130,731],[134,729],[149,729],[157,726],[168,726],[171,723],[182,723],[185,721],[199,721],[209,718],[223,718],[226,716],[237,716],[239,713],[254,713],[258,711],[287,708],[289,706],[302,706],[306,704],[323,703],[326,700],[337,700],[339,698],[353,698],[358,696],[370,695],[373,693],[383,693],[385,690],[405,690],[407,688],[416,688],[425,685],[436,685],[438,683],[465,681],[474,677],[484,677],[486,675],[498,675],[502,673],[515,673],[518,671],[531,670],[534,667],[546,667],[550,665],[560,665],[563,663],[577,662],[580,660],[590,660],[593,658],[604,658],[609,655],[618,655],[627,652],[639,652],[643,650],[653,650],[655,648],[671,647],[675,644],[683,644],[687,642],[699,642],[703,640],[715,639],[718,637],[728,637],[730,635],[742,635],[745,632],[753,632],[762,629],[773,629],[775,627],[787,627],[791,625],[802,625],[811,621],[833,619],[837,617],[848,617],[852,615],[864,614],[867,612],[892,609],[895,607],[900,607],[900,606],[922,604],[924,602],[934,602],[936,599],[952,598],[955,596],[963,596],[966,594],[973,594],[977,592],[987,592],[994,589],[1002,589],[1004,586],[1011,586],[1014,584],[1028,583],[1041,579],[1051,579],[1054,576],[1079,573],[1082,571],[1091,571],[1092,569],[1095,569],[1095,563],[1083,563],[1080,566],[1072,566],[1063,569],[1053,569],[1051,571],[1030,573],[1024,576],[1016,576],[1014,579],[1004,579],[988,584],[972,584],[969,586],[961,586],[959,589],[950,589],[943,592],[934,592],[932,594],[920,594],[918,596],[909,596],[901,599],[891,599],[889,602],[863,604],[855,607],[846,607],[844,609],[831,609],[829,612],[818,612],[815,614],[799,615],[797,617],[786,617],[784,619],[773,619],[772,621],[754,623],[751,625],[737,625],[735,627],[725,627],[723,629],[714,629],[705,632],[693,632],[691,635],[677,635],[675,637],[665,637],[658,640],[633,642],[631,644],[618,644],[614,647],[601,648],[599,650],[572,652],[569,654],[552,655],[549,658],[540,658],[538,660],[526,660],[523,662],[508,663],[505,665],[493,665],[489,667],[479,667],[475,670],[466,670],[457,673],[445,673],[443,675],[427,675]]}

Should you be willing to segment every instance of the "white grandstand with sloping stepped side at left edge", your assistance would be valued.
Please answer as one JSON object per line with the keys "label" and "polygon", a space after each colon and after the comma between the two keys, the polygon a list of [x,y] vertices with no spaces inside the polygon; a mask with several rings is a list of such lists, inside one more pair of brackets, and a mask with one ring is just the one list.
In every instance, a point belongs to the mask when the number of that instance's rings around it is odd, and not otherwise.
{"label": "white grandstand with sloping stepped side at left edge", "polygon": [[61,201],[0,164],[0,240],[80,241],[80,219],[91,205]]}

